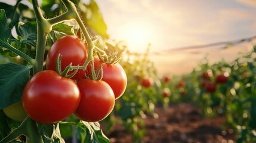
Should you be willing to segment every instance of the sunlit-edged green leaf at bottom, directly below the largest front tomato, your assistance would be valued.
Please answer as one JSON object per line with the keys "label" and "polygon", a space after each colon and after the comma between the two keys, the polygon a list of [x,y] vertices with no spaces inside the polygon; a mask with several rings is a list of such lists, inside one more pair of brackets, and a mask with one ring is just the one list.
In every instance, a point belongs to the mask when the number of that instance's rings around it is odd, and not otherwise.
{"label": "sunlit-edged green leaf at bottom, directly below the largest front tomato", "polygon": [[64,139],[61,138],[61,135],[60,135],[60,128],[58,123],[54,123],[54,124],[38,123],[38,132],[43,136],[43,140],[45,143],[64,142]]}

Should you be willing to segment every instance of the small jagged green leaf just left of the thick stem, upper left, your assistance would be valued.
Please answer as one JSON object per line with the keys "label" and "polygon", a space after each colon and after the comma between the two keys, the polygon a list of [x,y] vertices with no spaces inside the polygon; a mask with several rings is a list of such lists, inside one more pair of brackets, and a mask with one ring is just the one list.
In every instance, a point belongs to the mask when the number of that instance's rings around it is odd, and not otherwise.
{"label": "small jagged green leaf just left of the thick stem, upper left", "polygon": [[21,43],[27,43],[28,45],[36,46],[36,26],[36,21],[27,23],[19,22],[16,24],[16,32],[17,35],[21,37]]}

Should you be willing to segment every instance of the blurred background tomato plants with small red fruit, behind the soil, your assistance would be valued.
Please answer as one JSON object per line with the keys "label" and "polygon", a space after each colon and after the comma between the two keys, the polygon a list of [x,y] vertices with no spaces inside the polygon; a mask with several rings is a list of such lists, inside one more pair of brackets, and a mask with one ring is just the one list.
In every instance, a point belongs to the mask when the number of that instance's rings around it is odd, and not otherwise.
{"label": "blurred background tomato plants with small red fruit, behind the soil", "polygon": [[256,46],[229,62],[209,64],[204,58],[191,73],[178,76],[159,77],[147,52],[142,57],[130,57],[132,62],[127,63],[129,58],[123,62],[131,75],[127,91],[119,101],[122,105],[113,114],[121,116],[121,122],[132,130],[138,142],[146,132],[143,119],[158,117],[155,106],[168,108],[170,102],[193,102],[204,117],[224,116],[223,130],[232,129],[237,135],[236,142],[256,141]]}

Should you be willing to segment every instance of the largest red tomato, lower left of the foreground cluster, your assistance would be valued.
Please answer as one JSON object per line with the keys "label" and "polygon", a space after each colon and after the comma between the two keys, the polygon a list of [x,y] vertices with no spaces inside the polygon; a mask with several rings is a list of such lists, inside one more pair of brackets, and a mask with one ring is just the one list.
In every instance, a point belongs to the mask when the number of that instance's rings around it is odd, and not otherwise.
{"label": "largest red tomato, lower left of the foreground cluster", "polygon": [[36,122],[55,123],[78,107],[80,93],[72,79],[53,70],[35,74],[24,88],[22,101],[27,115]]}

